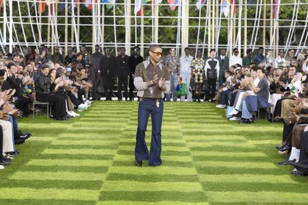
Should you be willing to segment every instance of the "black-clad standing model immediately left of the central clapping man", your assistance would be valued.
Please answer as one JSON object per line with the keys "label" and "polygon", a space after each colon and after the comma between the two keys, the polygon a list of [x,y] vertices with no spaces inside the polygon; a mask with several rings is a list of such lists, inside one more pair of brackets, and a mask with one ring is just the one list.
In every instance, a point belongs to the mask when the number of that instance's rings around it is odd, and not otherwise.
{"label": "black-clad standing model immediately left of the central clapping man", "polygon": [[129,57],[129,100],[133,100],[133,74],[135,73],[136,66],[143,61],[143,57],[140,56],[140,48],[138,46],[133,47],[133,55]]}

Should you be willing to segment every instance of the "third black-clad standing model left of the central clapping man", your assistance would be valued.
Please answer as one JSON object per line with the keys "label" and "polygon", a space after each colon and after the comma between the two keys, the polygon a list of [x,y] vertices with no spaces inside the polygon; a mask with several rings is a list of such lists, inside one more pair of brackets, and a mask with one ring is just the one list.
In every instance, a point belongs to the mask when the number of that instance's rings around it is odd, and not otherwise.
{"label": "third black-clad standing model left of the central clapping man", "polygon": [[116,57],[110,54],[110,48],[105,48],[105,55],[101,58],[101,74],[105,88],[106,100],[112,100],[114,90],[114,76],[116,74]]}

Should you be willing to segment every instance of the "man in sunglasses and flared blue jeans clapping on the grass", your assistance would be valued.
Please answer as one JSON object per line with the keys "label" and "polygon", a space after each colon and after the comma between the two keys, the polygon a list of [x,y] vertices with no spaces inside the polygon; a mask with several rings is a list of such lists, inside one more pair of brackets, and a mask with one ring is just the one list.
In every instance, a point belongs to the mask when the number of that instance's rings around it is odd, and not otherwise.
{"label": "man in sunglasses and flared blue jeans clapping on the grass", "polygon": [[[166,66],[160,63],[162,47],[151,45],[149,59],[136,66],[133,84],[140,97],[138,107],[138,128],[136,134],[135,164],[142,166],[142,161],[149,160],[150,166],[162,164],[162,115],[164,111],[163,98],[170,90],[170,78]],[[152,138],[151,150],[146,146],[146,125],[151,114]]]}

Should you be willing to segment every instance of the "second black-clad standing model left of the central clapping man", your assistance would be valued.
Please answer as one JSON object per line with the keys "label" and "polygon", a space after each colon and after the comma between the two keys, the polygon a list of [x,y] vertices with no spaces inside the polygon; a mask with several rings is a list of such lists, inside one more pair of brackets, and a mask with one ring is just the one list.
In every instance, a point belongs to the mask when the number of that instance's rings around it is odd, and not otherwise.
{"label": "second black-clad standing model left of the central clapping man", "polygon": [[129,56],[125,55],[125,51],[125,48],[120,48],[120,55],[116,57],[116,72],[118,75],[118,100],[122,100],[123,85],[125,100],[128,98],[127,81],[129,76]]}

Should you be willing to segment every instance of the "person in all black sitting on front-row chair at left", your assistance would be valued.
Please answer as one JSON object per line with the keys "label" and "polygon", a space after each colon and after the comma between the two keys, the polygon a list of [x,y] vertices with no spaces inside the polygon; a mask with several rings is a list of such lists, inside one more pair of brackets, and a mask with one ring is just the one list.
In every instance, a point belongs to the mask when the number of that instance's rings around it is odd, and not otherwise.
{"label": "person in all black sitting on front-row chair at left", "polygon": [[66,117],[65,98],[51,94],[50,79],[48,77],[49,67],[42,66],[41,71],[34,80],[36,87],[36,100],[40,102],[53,103],[52,115],[55,120],[68,120]]}

